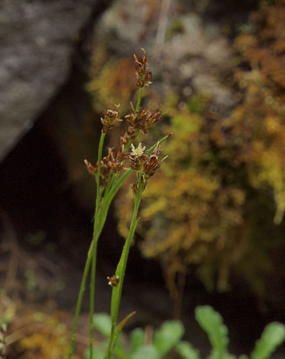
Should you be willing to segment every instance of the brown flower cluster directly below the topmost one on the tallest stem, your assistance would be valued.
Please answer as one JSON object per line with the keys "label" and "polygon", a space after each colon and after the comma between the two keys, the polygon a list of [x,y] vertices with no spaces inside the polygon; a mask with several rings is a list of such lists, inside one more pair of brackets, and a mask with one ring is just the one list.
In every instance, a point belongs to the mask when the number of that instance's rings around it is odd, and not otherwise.
{"label": "brown flower cluster directly below the topmost one on the tallest stem", "polygon": [[142,131],[144,134],[151,130],[151,126],[154,123],[160,122],[162,120],[162,114],[160,109],[156,109],[151,112],[150,108],[143,109],[141,111],[135,112],[133,105],[131,103],[133,112],[130,115],[125,116],[127,118],[129,127],[124,136],[120,137],[120,143],[122,151],[124,151],[125,146],[128,146],[130,141],[132,141],[138,134],[139,131]]}

